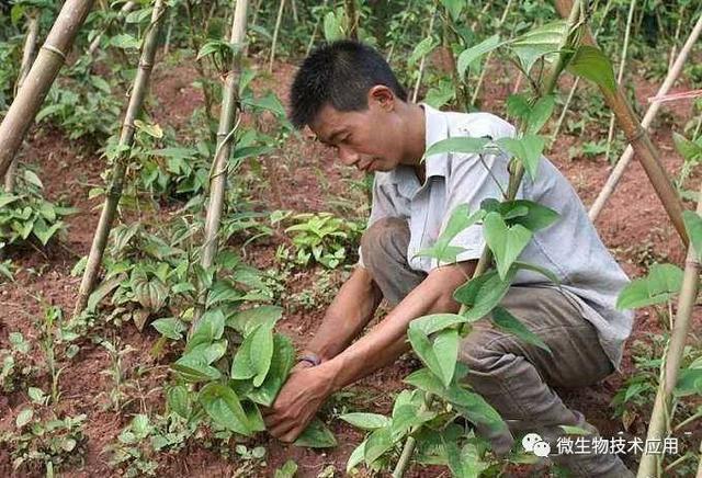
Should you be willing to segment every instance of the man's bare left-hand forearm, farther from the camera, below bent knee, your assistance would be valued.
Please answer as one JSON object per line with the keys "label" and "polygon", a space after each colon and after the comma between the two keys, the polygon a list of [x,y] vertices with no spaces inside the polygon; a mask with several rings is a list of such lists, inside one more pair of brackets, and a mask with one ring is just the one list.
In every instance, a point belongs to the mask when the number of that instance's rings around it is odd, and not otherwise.
{"label": "man's bare left-hand forearm, farther from the camera, below bent knee", "polygon": [[356,268],[327,309],[305,351],[316,353],[322,361],[337,356],[371,321],[382,298],[371,274]]}

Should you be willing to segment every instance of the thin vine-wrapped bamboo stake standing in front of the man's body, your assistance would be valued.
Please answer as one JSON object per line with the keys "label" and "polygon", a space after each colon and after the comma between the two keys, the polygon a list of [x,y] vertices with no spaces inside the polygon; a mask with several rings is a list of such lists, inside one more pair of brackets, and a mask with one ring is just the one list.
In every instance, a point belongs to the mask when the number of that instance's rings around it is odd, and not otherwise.
{"label": "thin vine-wrapped bamboo stake standing in front of the man's body", "polygon": [[[566,46],[568,41],[567,36],[569,36],[570,30],[577,24],[578,19],[580,18],[581,9],[582,9],[580,1],[581,0],[575,0],[571,10],[568,13],[568,21],[567,21],[568,33],[566,34],[566,37],[564,37],[563,41],[561,42],[561,45],[558,48],[559,50],[563,50],[563,48]],[[567,61],[567,58],[565,55],[563,54],[558,55],[558,59],[556,60],[556,64],[553,67],[551,76],[544,82],[544,88],[542,90],[543,95],[547,95],[553,92],[554,88],[556,87],[558,77],[561,76],[561,73],[563,72],[563,69],[566,66],[566,61]],[[521,185],[523,177],[524,177],[524,168],[521,164],[521,162],[516,162],[514,167],[512,167],[512,164],[510,163],[509,184],[507,187],[507,197],[506,197],[507,201],[513,201],[517,197],[517,193],[519,191],[519,186]],[[490,252],[490,249],[487,246],[485,246],[485,248],[483,249],[483,253],[480,254],[480,259],[478,260],[478,263],[475,268],[475,271],[473,272],[473,278],[478,277],[479,275],[483,275],[489,268],[491,261],[492,261],[492,254]],[[458,310],[458,315],[465,314],[466,309],[467,307],[465,305],[462,305],[461,309]],[[423,409],[429,408],[432,401],[433,401],[433,396],[431,394],[427,394],[427,396],[424,397],[424,403],[422,403],[423,407],[420,407],[420,410],[422,410],[422,408]],[[416,430],[417,428],[412,429],[412,433]],[[410,434],[405,441],[403,453],[400,454],[399,460],[397,462],[397,465],[393,470],[393,478],[401,478],[405,475],[405,473],[407,471],[407,468],[409,467],[409,460],[411,459],[411,456],[415,453],[416,446],[417,446],[417,441]]]}

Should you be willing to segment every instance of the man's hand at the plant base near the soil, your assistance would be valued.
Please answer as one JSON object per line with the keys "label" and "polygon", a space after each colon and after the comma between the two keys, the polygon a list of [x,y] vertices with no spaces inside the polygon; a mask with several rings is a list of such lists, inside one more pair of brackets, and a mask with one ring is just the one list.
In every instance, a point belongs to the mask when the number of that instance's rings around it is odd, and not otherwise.
{"label": "man's hand at the plant base near the soil", "polygon": [[295,441],[333,391],[332,383],[329,366],[297,364],[273,406],[263,412],[268,431],[283,442]]}

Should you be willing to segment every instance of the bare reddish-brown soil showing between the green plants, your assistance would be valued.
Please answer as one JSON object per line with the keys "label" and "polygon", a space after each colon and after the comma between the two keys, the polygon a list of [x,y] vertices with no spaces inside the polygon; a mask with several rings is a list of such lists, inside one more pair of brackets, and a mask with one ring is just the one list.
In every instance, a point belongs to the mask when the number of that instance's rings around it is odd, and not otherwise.
{"label": "bare reddish-brown soil showing between the green plants", "polygon": [[[281,64],[276,66],[272,77],[262,77],[262,86],[271,87],[285,100],[286,89],[294,72],[294,66]],[[506,75],[496,68],[495,76]],[[151,111],[152,116],[174,128],[185,125],[191,112],[202,102],[199,90],[192,87],[195,78],[194,69],[189,66],[157,67],[154,77],[158,106]],[[512,77],[513,78],[513,77]],[[483,107],[486,111],[501,111],[511,82],[490,81],[483,95]],[[636,82],[636,94],[639,102],[653,95],[656,87],[646,82]],[[688,103],[676,104],[668,110],[676,124],[690,118],[691,109]],[[568,148],[580,138],[562,135],[552,148],[551,160],[571,181],[580,197],[589,204],[607,179],[610,167],[602,158],[596,160],[568,159]],[[681,159],[675,152],[669,124],[663,125],[654,134],[654,141],[663,151],[663,160],[668,171],[677,171]],[[70,270],[77,258],[86,254],[90,247],[92,232],[97,225],[97,200],[88,200],[88,190],[101,184],[100,174],[104,162],[89,147],[71,143],[59,132],[50,127],[36,128],[32,132],[27,147],[23,153],[25,161],[38,164],[46,193],[53,200],[65,198],[80,208],[72,216],[67,237],[61,244],[52,244],[44,252],[35,250],[15,250],[11,254],[14,264],[21,268],[14,283],[0,285],[0,348],[8,346],[8,334],[21,331],[26,338],[36,338],[34,322],[43,315],[41,301],[59,306],[68,315],[72,310],[79,278],[70,276]],[[268,184],[262,185],[261,198],[270,209],[287,208],[297,212],[328,210],[333,207],[330,200],[338,197],[362,201],[361,193],[351,191],[348,180],[359,180],[360,174],[333,162],[330,151],[310,138],[292,138],[285,148],[274,155],[262,158],[263,178]],[[688,207],[690,207],[688,205]],[[168,214],[167,212],[163,214]],[[677,264],[683,262],[683,250],[675,230],[654,194],[641,164],[634,161],[616,193],[597,221],[598,230],[605,244],[615,254],[624,270],[632,276],[641,274],[642,259],[658,258]],[[273,263],[273,253],[278,243],[272,241],[263,246],[249,247],[247,255],[261,268]],[[574,251],[576,252],[576,251]],[[595,265],[595,264],[593,264]],[[315,277],[313,273],[297,274],[291,284],[298,292],[309,287]],[[41,298],[41,300],[39,300]],[[295,312],[285,316],[281,330],[290,334],[297,345],[302,345],[314,333],[324,314],[324,307],[309,312]],[[701,315],[695,309],[694,328],[700,330]],[[630,343],[636,339],[645,340],[649,333],[660,331],[660,326],[650,310],[639,311],[636,316],[635,330]],[[150,354],[158,334],[146,331],[140,334],[128,325],[118,332],[123,345],[132,345],[136,352],[128,355],[125,367],[134,374],[137,365],[145,366],[146,373],[140,376],[141,396],[125,408],[122,413],[104,411],[105,394],[110,389],[109,377],[101,375],[110,360],[99,345],[87,343],[78,356],[65,363],[61,374],[61,400],[59,414],[87,413],[87,443],[84,464],[61,470],[65,476],[116,476],[116,471],[107,465],[103,448],[114,441],[122,428],[131,420],[131,414],[139,411],[159,411],[162,396],[159,387],[167,377],[167,361],[155,360]],[[36,350],[36,349],[35,349]],[[367,410],[387,412],[390,410],[392,394],[401,389],[401,378],[416,363],[403,358],[398,365],[388,367],[362,380],[354,387],[358,396],[353,399],[359,407]],[[605,435],[621,429],[618,420],[611,418],[610,400],[632,369],[631,349],[627,348],[623,362],[624,374],[612,375],[595,387],[563,391],[564,400],[571,407],[584,411],[590,422],[596,424]],[[32,385],[47,389],[47,377]],[[148,391],[155,390],[152,395]],[[15,392],[0,398],[0,429],[13,426],[14,419],[22,406],[27,402],[24,392]],[[338,403],[337,403],[338,406]],[[635,435],[642,436],[643,419],[632,425]],[[250,469],[241,462],[233,462],[216,452],[205,449],[197,443],[191,443],[176,455],[159,458],[160,476],[267,476],[272,475],[275,467],[288,458],[299,466],[298,476],[315,477],[328,465],[337,470],[346,468],[350,452],[362,440],[362,433],[346,425],[339,420],[332,422],[332,431],[340,445],[331,451],[316,452],[301,449],[281,444],[274,440],[260,439],[268,446],[268,467]],[[633,464],[630,464],[633,466]],[[524,470],[514,469],[521,475]],[[7,451],[0,451],[0,475],[16,474],[9,463]],[[41,470],[26,471],[30,476],[42,475]],[[416,476],[435,476],[431,469],[415,469]]]}

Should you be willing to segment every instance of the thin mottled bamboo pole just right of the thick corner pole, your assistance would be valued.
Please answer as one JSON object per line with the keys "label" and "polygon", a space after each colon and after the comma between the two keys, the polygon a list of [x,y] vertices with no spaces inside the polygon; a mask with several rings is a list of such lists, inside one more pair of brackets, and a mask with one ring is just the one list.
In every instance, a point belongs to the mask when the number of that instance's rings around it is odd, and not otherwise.
{"label": "thin mottled bamboo pole just right of the thick corner pole", "polygon": [[144,47],[141,48],[141,56],[139,58],[139,67],[136,77],[134,78],[132,96],[129,98],[129,104],[122,123],[120,146],[125,148],[120,152],[120,156],[116,158],[114,163],[110,191],[107,192],[105,202],[102,206],[100,221],[98,223],[98,228],[95,229],[95,235],[92,239],[88,262],[86,263],[86,270],[80,282],[80,288],[78,289],[78,298],[76,299],[73,315],[80,314],[86,308],[88,298],[90,297],[90,294],[98,281],[102,255],[104,254],[107,238],[110,237],[110,229],[112,228],[117,205],[122,197],[122,187],[124,186],[124,177],[129,156],[128,150],[134,143],[134,133],[136,130],[134,121],[141,112],[144,99],[148,92],[149,79],[154,68],[154,59],[156,57],[156,50],[158,49],[158,34],[160,26],[163,23],[165,12],[165,1],[155,0],[154,11],[151,12],[150,30],[147,32],[144,39]]}

